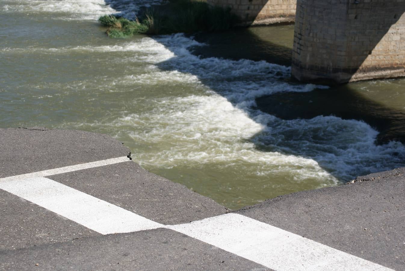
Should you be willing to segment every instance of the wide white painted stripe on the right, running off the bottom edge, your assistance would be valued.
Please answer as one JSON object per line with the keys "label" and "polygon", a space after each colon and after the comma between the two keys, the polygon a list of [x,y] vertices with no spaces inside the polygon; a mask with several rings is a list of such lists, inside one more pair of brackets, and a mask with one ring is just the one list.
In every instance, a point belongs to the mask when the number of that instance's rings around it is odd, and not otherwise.
{"label": "wide white painted stripe on the right, running off the bottom edge", "polygon": [[374,262],[236,213],[166,228],[275,270],[392,271]]}

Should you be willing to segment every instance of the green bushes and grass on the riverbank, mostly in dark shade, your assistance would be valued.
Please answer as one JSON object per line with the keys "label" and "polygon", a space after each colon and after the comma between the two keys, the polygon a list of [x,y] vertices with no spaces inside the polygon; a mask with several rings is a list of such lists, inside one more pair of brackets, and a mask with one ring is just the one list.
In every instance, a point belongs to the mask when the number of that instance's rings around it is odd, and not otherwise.
{"label": "green bushes and grass on the riverbank, mostly in dark shade", "polygon": [[228,30],[238,22],[230,9],[209,6],[201,0],[172,0],[168,4],[146,9],[139,18],[105,15],[98,20],[108,27],[110,37],[134,34],[171,34]]}

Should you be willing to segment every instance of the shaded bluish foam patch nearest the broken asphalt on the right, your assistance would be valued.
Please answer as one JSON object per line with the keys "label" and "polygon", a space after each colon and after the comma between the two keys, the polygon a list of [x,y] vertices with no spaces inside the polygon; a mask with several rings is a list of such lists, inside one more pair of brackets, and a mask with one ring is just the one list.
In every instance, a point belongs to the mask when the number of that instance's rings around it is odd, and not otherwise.
{"label": "shaded bluish foam patch nearest the broken asphalt on the right", "polygon": [[254,142],[281,152],[310,157],[322,168],[348,181],[358,175],[403,166],[405,147],[399,142],[375,145],[378,132],[357,120],[334,116],[274,119]]}

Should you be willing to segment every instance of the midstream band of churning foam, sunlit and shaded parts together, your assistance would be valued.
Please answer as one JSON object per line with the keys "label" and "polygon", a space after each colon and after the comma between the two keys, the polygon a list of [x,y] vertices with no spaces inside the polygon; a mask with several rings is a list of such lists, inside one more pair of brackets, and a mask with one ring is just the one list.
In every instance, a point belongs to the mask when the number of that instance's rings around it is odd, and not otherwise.
{"label": "midstream band of churning foam, sunlit and shaded parts together", "polygon": [[167,149],[139,154],[141,163],[170,168],[193,162],[243,161],[254,164],[258,175],[271,174],[279,166],[280,170],[295,170],[297,174],[292,176],[296,181],[318,176],[327,183],[336,183],[335,177],[347,181],[362,173],[403,166],[404,146],[398,142],[376,146],[378,132],[364,122],[333,116],[281,120],[256,110],[255,99],[260,96],[327,88],[278,80],[289,77],[290,68],[264,61],[199,58],[189,48],[201,45],[181,34],[156,41],[174,56],[156,64],[160,71],[152,75],[127,79],[153,84],[155,80],[171,81],[173,73],[183,73],[188,76],[175,76],[173,81],[192,77],[211,91],[156,100],[158,105],[150,112],[116,120],[134,127],[130,134],[136,142],[166,147],[167,142],[176,142]]}

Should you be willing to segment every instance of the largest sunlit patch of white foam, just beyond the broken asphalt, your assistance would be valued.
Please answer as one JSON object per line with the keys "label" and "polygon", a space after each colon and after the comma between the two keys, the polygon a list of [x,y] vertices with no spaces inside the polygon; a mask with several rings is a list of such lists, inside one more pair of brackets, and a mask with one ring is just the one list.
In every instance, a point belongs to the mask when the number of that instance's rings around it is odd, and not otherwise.
{"label": "largest sunlit patch of white foam, just beyond the broken asphalt", "polygon": [[148,113],[129,114],[115,121],[117,126],[133,127],[129,134],[138,144],[154,146],[150,152],[134,154],[144,166],[169,169],[205,163],[225,167],[245,163],[257,175],[284,171],[296,181],[311,176],[322,178],[328,185],[337,184],[337,179],[313,159],[256,149],[250,138],[265,127],[218,94],[162,99],[156,103],[159,106]]}

